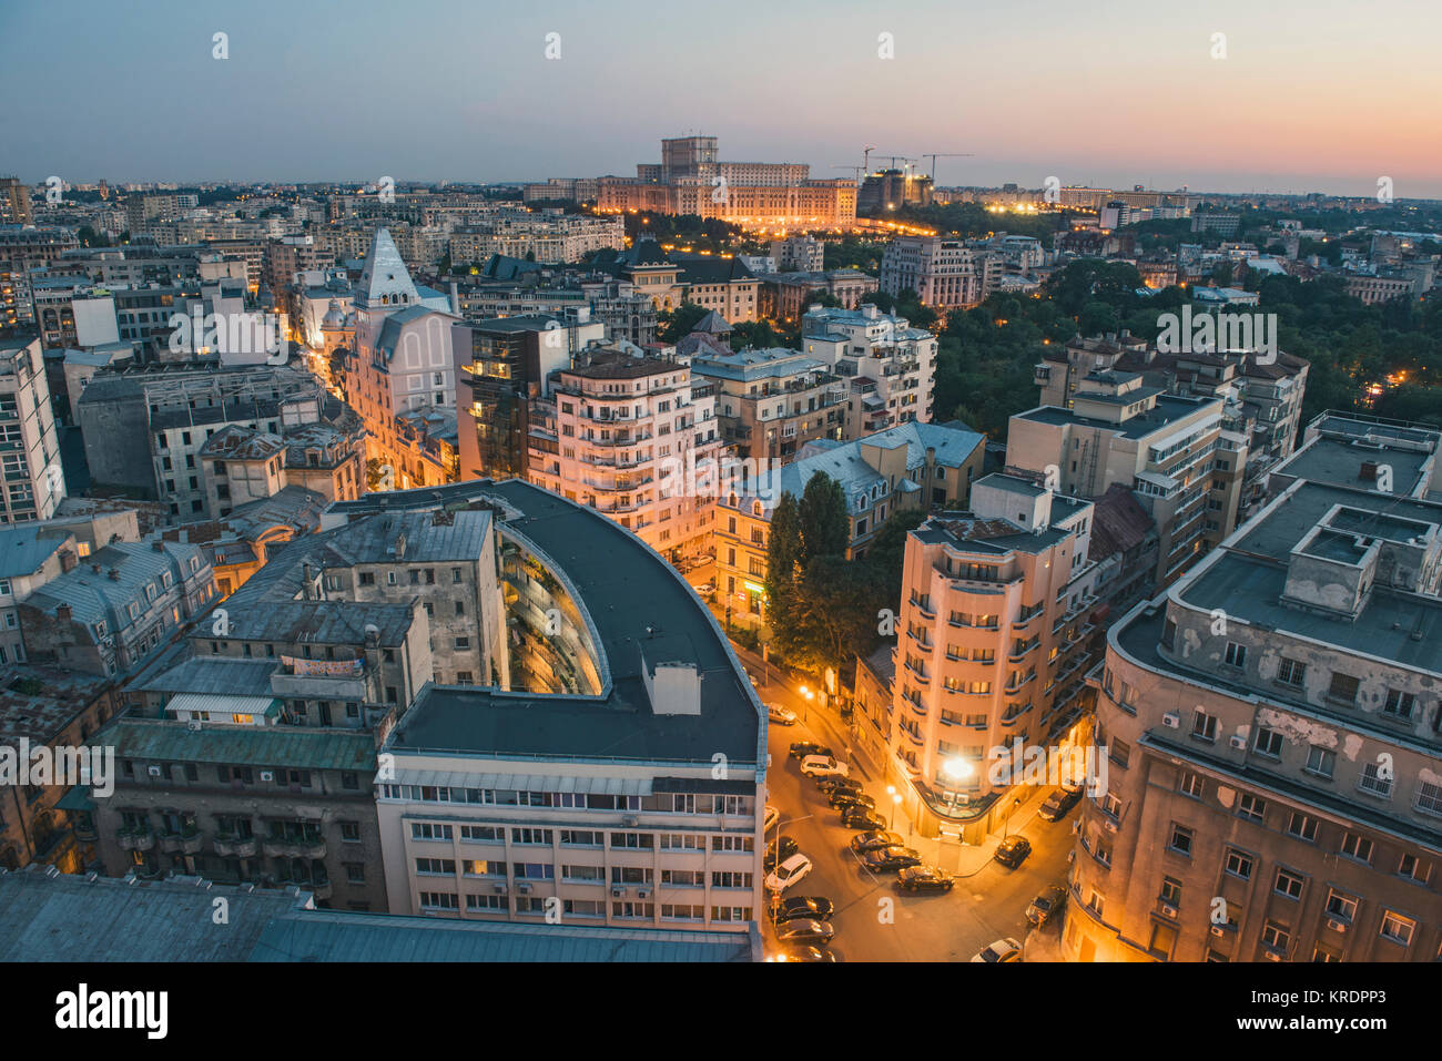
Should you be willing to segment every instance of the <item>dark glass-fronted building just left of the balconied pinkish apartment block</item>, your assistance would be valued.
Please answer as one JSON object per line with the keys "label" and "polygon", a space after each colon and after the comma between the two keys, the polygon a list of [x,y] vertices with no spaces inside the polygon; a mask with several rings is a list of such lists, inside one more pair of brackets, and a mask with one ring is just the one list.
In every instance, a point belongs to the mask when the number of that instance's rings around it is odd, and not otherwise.
{"label": "dark glass-fronted building just left of the balconied pinkish apartment block", "polygon": [[531,402],[575,355],[606,339],[583,307],[570,317],[528,314],[456,327],[456,432],[460,477],[525,479]]}

